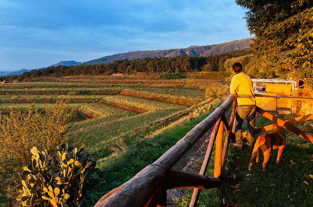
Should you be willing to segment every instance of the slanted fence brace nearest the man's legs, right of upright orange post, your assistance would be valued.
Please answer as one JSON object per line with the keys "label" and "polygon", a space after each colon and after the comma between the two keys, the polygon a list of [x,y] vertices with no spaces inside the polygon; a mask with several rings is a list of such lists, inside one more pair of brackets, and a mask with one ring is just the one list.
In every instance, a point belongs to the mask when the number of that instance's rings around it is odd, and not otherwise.
{"label": "slanted fence brace nearest the man's legs, right of upright orange post", "polygon": [[[237,103],[234,102],[233,103],[232,114],[231,114],[230,120],[229,120],[229,128],[230,129],[227,131],[225,142],[224,142],[224,147],[223,147],[222,167],[221,167],[221,176],[220,177],[223,177],[224,176],[224,172],[225,172],[227,152],[228,152],[228,148],[229,148],[230,139],[233,136],[232,129],[233,129],[233,123],[234,123],[234,120],[235,120],[236,108],[237,108]],[[226,117],[225,117],[225,119],[226,119]]]}

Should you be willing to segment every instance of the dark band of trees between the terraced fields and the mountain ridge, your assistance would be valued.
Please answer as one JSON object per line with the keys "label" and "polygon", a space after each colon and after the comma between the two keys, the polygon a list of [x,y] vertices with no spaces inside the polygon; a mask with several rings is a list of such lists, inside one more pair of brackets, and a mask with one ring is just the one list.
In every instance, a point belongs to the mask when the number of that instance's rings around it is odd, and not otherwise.
{"label": "dark band of trees between the terraced fields and the mountain ridge", "polygon": [[232,53],[211,55],[208,57],[180,55],[176,57],[137,58],[133,60],[115,60],[112,63],[74,66],[51,66],[42,69],[33,69],[19,75],[2,76],[1,80],[22,82],[29,78],[62,77],[77,75],[110,75],[112,73],[134,74],[137,72],[168,72],[187,73],[191,71],[223,71],[223,64],[229,58],[240,57],[253,53],[252,50],[238,50]]}

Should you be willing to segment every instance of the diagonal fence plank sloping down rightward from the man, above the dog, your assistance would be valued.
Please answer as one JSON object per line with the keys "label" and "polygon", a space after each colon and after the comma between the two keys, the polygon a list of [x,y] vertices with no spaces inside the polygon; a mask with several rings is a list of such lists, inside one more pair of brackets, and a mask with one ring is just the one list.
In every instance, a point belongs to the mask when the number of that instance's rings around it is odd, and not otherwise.
{"label": "diagonal fence plank sloping down rightward from the man, above the dog", "polygon": [[288,129],[289,131],[299,135],[303,139],[309,141],[310,143],[313,144],[313,137],[310,134],[305,133],[304,131],[296,128],[295,126],[289,124],[288,122],[285,122],[284,120],[278,119],[276,116],[273,116],[272,114],[264,111],[263,109],[256,107],[256,111],[259,114],[262,114],[264,117],[268,118],[269,120],[272,120],[279,126],[283,127],[284,129]]}

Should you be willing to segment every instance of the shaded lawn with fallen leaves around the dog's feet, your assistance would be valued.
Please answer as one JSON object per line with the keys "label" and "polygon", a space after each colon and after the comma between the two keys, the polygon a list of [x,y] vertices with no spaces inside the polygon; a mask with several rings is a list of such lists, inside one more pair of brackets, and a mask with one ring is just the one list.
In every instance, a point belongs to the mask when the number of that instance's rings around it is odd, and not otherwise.
{"label": "shaded lawn with fallen leaves around the dog's feet", "polygon": [[[278,115],[278,117],[287,120],[295,118],[295,114]],[[256,122],[258,127],[269,124],[272,122],[263,117]],[[312,121],[299,123],[296,126],[312,134],[313,129],[310,124]],[[252,152],[249,150],[239,151],[230,146],[222,186],[216,189],[202,190],[198,206],[221,206],[223,198],[240,207],[313,206],[313,179],[308,176],[313,174],[311,155],[313,154],[313,145],[290,132],[286,132],[286,135],[287,144],[280,163],[276,164],[278,150],[271,150],[272,155],[266,163],[266,169],[269,170],[267,172],[262,170],[264,160],[262,152],[259,156],[259,162],[256,163],[254,160],[252,171],[249,171],[248,166]],[[211,159],[213,158],[212,154]],[[290,160],[296,164],[293,165]],[[209,164],[206,175],[212,176],[213,169],[213,164]],[[235,184],[240,184],[238,189],[231,187]],[[189,206],[192,190],[188,189],[186,192],[186,197],[174,202],[178,207]]]}

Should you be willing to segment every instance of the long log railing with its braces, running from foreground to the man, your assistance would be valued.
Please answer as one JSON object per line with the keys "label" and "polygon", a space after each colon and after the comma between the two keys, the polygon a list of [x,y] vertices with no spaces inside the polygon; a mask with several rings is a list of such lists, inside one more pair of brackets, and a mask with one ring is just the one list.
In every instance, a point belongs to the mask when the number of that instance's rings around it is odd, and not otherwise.
{"label": "long log railing with its braces, running from foreground to the man", "polygon": [[[210,114],[195,126],[173,147],[167,150],[153,164],[146,166],[132,179],[105,194],[95,207],[106,206],[166,206],[167,189],[194,188],[190,206],[196,206],[200,189],[212,189],[220,186],[223,177],[227,151],[232,137],[233,122],[236,112],[237,95],[232,94]],[[233,104],[230,122],[225,112]],[[216,123],[216,124],[215,124]],[[199,174],[171,170],[173,165],[215,124],[208,149]],[[223,133],[226,139],[223,147]],[[205,176],[215,143],[214,177]]]}

